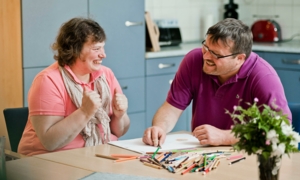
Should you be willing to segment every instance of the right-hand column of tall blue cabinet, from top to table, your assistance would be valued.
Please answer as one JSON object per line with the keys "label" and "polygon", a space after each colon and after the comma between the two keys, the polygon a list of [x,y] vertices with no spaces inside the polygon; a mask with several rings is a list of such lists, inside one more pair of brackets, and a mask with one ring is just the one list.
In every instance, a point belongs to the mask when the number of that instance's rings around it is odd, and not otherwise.
{"label": "right-hand column of tall blue cabinet, from top to table", "polygon": [[145,121],[145,8],[141,0],[89,0],[89,17],[103,27],[106,58],[128,98],[128,132],[121,139],[138,138]]}

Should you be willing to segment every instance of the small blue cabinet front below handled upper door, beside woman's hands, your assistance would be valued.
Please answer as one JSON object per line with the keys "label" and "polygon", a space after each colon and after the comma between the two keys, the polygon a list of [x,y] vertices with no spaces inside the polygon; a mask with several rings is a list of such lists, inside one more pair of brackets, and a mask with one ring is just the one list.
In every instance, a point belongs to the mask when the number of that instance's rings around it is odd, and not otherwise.
{"label": "small blue cabinet front below handled upper door, beside woman's hands", "polygon": [[145,78],[118,80],[128,99],[128,113],[145,111]]}

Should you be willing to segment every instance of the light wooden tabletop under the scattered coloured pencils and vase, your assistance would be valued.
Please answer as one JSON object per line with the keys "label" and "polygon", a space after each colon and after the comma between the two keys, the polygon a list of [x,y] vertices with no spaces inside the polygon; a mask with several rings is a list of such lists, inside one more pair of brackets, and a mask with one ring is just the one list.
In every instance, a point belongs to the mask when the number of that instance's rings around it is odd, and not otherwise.
{"label": "light wooden tabletop under the scattered coloured pencils and vase", "polygon": [[[230,147],[204,147],[203,149],[229,149]],[[118,174],[129,174],[139,176],[149,176],[156,178],[172,179],[230,179],[230,180],[253,180],[258,179],[258,166],[256,156],[247,156],[245,161],[240,161],[233,165],[228,165],[228,160],[223,159],[216,170],[202,175],[201,172],[187,173],[185,175],[169,173],[165,169],[154,169],[143,165],[139,160],[114,163],[113,160],[96,157],[95,154],[137,154],[135,152],[121,149],[111,145],[100,145],[74,150],[54,152],[34,157],[49,160],[87,171],[109,172]],[[292,154],[291,158],[284,157],[280,169],[280,179],[300,178],[300,153]]]}

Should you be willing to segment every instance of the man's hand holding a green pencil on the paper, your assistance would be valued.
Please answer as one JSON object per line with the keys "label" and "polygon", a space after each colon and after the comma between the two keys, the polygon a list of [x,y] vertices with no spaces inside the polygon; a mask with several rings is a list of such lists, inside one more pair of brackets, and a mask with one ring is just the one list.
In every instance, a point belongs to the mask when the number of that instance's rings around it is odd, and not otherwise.
{"label": "man's hand holding a green pencil on the paper", "polygon": [[159,126],[152,126],[145,130],[143,142],[151,146],[161,146],[166,139],[166,133]]}

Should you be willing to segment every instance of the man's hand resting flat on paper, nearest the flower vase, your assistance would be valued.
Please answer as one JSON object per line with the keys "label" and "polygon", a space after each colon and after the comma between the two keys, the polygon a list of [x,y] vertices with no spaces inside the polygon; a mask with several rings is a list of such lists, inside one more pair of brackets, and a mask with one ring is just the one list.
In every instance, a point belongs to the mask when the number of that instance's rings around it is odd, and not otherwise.
{"label": "man's hand resting flat on paper, nearest the flower vase", "polygon": [[221,130],[207,124],[196,127],[193,136],[201,145],[232,145],[237,142],[230,130]]}

